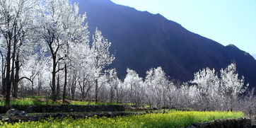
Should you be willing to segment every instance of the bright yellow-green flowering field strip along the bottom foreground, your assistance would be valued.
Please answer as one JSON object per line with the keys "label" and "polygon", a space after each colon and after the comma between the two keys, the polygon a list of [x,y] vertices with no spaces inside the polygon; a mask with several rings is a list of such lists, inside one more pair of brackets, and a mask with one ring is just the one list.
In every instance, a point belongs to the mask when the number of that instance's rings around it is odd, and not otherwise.
{"label": "bright yellow-green flowering field strip along the bottom foreground", "polygon": [[146,114],[146,115],[131,115],[127,117],[88,117],[88,119],[78,119],[73,120],[66,118],[64,120],[42,120],[40,122],[18,122],[15,124],[8,124],[7,122],[0,122],[0,127],[17,127],[17,128],[27,128],[27,127],[37,127],[37,128],[47,128],[47,127],[59,127],[59,128],[69,128],[69,127],[102,127],[102,128],[112,128],[112,127],[187,127],[196,122],[209,122],[211,120],[217,119],[230,119],[230,118],[241,118],[245,117],[243,112],[169,112],[165,114]]}

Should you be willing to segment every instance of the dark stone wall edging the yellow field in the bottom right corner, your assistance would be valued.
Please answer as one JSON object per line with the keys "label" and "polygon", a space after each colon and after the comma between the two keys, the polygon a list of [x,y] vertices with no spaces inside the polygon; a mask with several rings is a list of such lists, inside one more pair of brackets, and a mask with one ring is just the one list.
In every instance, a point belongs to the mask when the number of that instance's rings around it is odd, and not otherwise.
{"label": "dark stone wall edging the yellow field in the bottom right corner", "polygon": [[214,120],[211,122],[196,123],[187,128],[251,128],[252,122],[250,119],[228,119]]}

